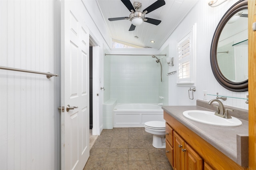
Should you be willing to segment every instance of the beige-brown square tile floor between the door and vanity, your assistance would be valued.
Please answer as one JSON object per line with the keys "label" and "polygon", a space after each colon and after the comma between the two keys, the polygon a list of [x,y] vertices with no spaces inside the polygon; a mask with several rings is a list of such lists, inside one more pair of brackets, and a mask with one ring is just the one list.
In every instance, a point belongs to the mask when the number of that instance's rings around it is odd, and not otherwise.
{"label": "beige-brown square tile floor between the door and vanity", "polygon": [[103,129],[84,170],[172,170],[165,149],[152,146],[144,128]]}

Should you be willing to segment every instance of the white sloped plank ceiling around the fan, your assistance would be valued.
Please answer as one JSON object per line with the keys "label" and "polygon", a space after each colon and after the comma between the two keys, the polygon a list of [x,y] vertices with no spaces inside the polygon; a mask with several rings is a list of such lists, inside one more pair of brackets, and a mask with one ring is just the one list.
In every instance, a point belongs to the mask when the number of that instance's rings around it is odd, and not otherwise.
{"label": "white sloped plank ceiling around the fan", "polygon": [[[193,8],[198,0],[165,0],[165,5],[145,14],[147,18],[161,20],[159,25],[143,22],[136,26],[135,30],[129,31],[130,20],[109,21],[108,18],[129,17],[131,12],[126,8],[121,0],[97,0],[102,16],[108,27],[108,31],[113,40],[121,43],[138,45],[159,49],[167,40],[176,26],[180,23],[188,12]],[[131,4],[140,2],[141,12],[156,0],[130,0]],[[137,36],[138,38],[135,38]],[[153,40],[154,43],[150,41]]]}

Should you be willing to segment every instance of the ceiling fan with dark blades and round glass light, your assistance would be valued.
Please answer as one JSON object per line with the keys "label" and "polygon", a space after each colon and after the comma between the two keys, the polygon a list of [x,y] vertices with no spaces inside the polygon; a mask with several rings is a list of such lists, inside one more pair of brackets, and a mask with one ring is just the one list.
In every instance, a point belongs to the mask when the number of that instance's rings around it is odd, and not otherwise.
{"label": "ceiling fan with dark blades and round glass light", "polygon": [[132,25],[130,26],[129,31],[134,31],[135,27],[142,24],[143,21],[148,22],[150,24],[154,24],[156,26],[158,24],[160,24],[160,22],[161,22],[160,20],[156,20],[153,18],[147,18],[147,17],[145,18],[145,14],[148,14],[148,13],[156,10],[157,8],[160,8],[161,6],[165,5],[164,0],[157,0],[156,2],[154,2],[153,4],[148,6],[148,8],[144,9],[142,12],[139,11],[139,9],[141,7],[140,2],[134,2],[132,5],[130,0],[121,0],[121,1],[126,6],[126,8],[132,13],[129,15],[129,17],[108,18],[109,21],[130,20],[132,22]]}

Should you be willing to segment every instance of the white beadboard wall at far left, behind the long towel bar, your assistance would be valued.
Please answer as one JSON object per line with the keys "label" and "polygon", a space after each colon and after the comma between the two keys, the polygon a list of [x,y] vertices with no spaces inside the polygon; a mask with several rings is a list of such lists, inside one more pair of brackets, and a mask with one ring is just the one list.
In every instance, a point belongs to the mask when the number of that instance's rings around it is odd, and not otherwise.
{"label": "white beadboard wall at far left, behind the long towel bar", "polygon": [[[60,1],[0,1],[0,65],[60,74]],[[60,77],[0,70],[0,169],[60,169]]]}

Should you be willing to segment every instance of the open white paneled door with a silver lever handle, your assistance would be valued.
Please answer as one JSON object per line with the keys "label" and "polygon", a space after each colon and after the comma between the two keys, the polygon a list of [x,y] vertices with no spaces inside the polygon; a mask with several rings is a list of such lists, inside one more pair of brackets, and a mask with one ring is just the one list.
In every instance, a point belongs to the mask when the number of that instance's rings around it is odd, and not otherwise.
{"label": "open white paneled door with a silver lever handle", "polygon": [[82,170],[90,151],[89,33],[84,10],[81,0],[61,1],[62,170]]}

